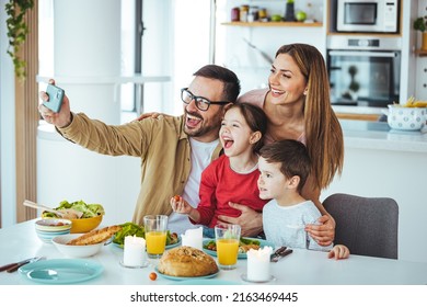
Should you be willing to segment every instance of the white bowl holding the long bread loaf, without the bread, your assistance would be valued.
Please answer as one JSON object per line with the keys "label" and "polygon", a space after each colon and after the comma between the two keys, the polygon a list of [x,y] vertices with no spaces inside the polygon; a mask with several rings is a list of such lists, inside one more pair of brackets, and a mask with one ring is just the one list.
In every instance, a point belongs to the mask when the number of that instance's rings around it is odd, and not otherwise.
{"label": "white bowl holding the long bread loaf, without the bread", "polygon": [[69,241],[80,237],[83,234],[70,234],[55,237],[51,242],[54,246],[68,258],[86,258],[101,251],[104,242],[90,246],[67,246]]}

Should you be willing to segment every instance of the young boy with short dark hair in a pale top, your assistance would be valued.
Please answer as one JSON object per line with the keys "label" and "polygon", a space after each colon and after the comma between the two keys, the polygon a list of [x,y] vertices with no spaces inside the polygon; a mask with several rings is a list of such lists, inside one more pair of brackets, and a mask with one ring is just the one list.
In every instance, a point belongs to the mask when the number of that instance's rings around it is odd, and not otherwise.
{"label": "young boy with short dark hair in a pale top", "polygon": [[313,202],[300,194],[311,170],[302,143],[285,139],[264,146],[258,169],[259,197],[272,200],[263,208],[264,234],[268,241],[275,246],[330,251],[328,258],[348,258],[347,247],[322,247],[304,230],[307,224],[315,224],[321,213]]}

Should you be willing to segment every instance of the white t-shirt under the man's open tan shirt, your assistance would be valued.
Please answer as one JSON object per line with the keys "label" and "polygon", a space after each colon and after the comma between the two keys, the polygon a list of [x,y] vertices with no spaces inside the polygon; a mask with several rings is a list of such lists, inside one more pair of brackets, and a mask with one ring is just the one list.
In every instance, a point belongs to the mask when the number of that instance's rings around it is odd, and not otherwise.
{"label": "white t-shirt under the man's open tan shirt", "polygon": [[[200,202],[199,186],[201,172],[209,166],[215,148],[217,148],[219,139],[211,143],[201,143],[189,138],[189,145],[192,147],[192,170],[187,183],[184,187],[183,198],[188,202],[193,207],[197,207]],[[169,216],[168,228],[171,232],[185,234],[186,229],[198,228],[199,226],[193,225],[188,216],[177,213],[172,213]]]}

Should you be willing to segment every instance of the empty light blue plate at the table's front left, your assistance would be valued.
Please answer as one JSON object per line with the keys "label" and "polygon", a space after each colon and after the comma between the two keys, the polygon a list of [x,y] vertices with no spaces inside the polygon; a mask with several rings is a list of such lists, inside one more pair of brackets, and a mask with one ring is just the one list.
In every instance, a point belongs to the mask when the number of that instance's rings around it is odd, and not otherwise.
{"label": "empty light blue plate at the table's front left", "polygon": [[76,284],[92,280],[104,271],[97,262],[83,259],[51,259],[25,264],[19,272],[35,283]]}

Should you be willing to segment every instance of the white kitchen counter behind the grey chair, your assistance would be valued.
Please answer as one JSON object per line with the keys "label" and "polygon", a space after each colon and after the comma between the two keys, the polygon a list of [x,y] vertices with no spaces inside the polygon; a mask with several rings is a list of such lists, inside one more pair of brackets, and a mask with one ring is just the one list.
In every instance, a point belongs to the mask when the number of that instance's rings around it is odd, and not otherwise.
{"label": "white kitchen counter behind the grey chair", "polygon": [[344,168],[334,193],[392,197],[399,204],[399,259],[427,262],[427,129],[391,130],[383,122],[341,121]]}

